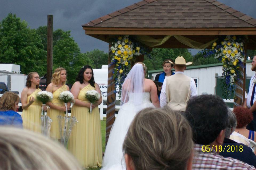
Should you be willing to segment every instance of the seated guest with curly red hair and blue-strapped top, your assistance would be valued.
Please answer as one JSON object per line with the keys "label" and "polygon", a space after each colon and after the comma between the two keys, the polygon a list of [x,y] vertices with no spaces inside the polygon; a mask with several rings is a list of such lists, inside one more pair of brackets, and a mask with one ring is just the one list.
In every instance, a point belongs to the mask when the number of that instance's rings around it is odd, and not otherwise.
{"label": "seated guest with curly red hair and blue-strapped top", "polygon": [[256,142],[256,132],[246,129],[247,124],[253,120],[253,114],[251,111],[248,108],[236,107],[233,112],[237,118],[237,128],[235,131]]}

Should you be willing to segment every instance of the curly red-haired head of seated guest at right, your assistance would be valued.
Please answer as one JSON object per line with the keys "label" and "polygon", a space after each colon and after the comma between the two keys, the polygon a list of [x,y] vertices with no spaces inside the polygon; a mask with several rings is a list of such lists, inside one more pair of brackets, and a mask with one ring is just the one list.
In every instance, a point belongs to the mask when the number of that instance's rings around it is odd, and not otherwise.
{"label": "curly red-haired head of seated guest at right", "polygon": [[236,107],[233,112],[237,118],[237,128],[243,128],[253,120],[253,114],[248,108]]}

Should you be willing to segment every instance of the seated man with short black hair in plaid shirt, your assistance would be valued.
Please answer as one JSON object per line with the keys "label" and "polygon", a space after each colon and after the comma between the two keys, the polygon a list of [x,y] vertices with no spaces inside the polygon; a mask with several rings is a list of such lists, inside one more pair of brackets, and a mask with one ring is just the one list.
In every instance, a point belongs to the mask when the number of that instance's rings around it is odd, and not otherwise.
{"label": "seated man with short black hair in plaid shirt", "polygon": [[225,102],[218,96],[200,95],[188,101],[184,115],[192,128],[195,143],[193,169],[255,169],[218,154],[229,123],[227,112]]}

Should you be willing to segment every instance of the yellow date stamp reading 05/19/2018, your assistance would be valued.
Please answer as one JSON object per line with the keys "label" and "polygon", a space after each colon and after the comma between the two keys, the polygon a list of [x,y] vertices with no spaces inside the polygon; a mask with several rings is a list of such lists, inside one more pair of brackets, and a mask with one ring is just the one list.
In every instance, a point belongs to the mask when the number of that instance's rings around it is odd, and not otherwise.
{"label": "yellow date stamp reading 05/19/2018", "polygon": [[243,146],[240,145],[240,146],[234,146],[234,145],[225,145],[225,146],[217,146],[217,145],[213,145],[213,146],[210,146],[210,145],[203,145],[202,146],[202,151],[203,152],[211,152],[212,150],[215,150],[215,151],[219,151],[219,152],[243,152]]}

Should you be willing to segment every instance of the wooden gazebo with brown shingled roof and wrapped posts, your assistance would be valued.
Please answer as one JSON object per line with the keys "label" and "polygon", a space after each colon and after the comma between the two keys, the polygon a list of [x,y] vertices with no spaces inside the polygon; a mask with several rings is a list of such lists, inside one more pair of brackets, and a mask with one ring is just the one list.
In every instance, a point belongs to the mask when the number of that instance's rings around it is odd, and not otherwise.
{"label": "wooden gazebo with brown shingled roof and wrapped posts", "polygon": [[[256,49],[256,19],[215,0],[143,0],[82,27],[86,35],[109,43],[106,143],[115,118],[111,37],[130,35],[156,48],[209,48],[219,36],[245,35],[245,53]],[[137,61],[143,61],[143,56]],[[245,68],[241,71],[245,81]],[[239,86],[236,104],[245,98],[245,83]]]}

